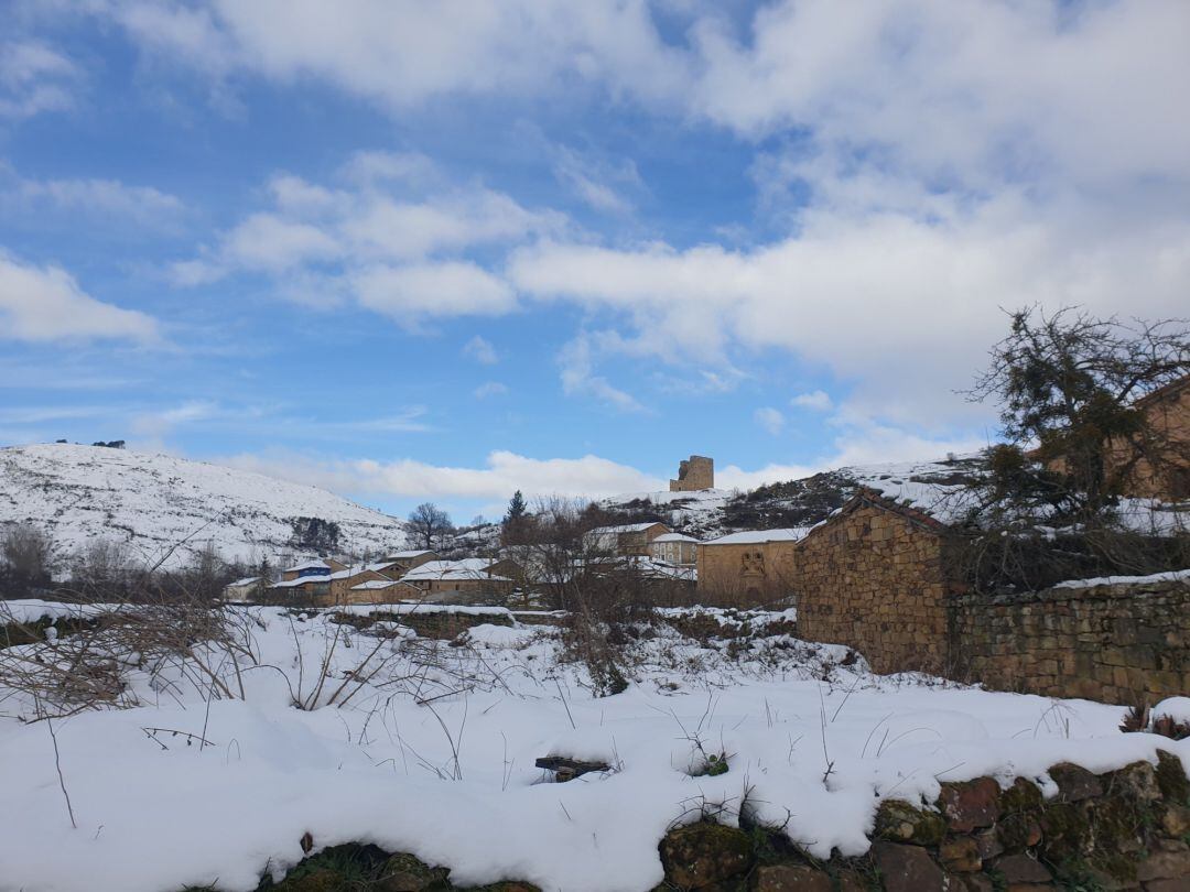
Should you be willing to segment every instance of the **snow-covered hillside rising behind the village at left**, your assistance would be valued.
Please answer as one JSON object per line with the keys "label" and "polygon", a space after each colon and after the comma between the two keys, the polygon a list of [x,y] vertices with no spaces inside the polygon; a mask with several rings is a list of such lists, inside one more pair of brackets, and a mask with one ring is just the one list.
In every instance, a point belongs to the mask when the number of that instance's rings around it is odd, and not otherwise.
{"label": "snow-covered hillside rising behind the village at left", "polygon": [[213,542],[227,559],[276,555],[293,521],[339,526],[344,552],[405,545],[405,524],[315,486],[173,456],[44,444],[0,450],[0,526],[50,530],[60,554],[89,539],[127,541],[156,563],[186,540],[175,560]]}

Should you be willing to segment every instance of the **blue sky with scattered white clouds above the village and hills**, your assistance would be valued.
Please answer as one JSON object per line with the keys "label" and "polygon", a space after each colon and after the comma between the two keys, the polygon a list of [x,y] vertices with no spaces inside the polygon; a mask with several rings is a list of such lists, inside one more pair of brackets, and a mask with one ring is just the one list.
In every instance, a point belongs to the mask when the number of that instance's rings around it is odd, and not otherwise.
{"label": "blue sky with scattered white clouds above the village and hills", "polygon": [[996,436],[1190,315],[1184,0],[0,0],[0,444],[403,514]]}

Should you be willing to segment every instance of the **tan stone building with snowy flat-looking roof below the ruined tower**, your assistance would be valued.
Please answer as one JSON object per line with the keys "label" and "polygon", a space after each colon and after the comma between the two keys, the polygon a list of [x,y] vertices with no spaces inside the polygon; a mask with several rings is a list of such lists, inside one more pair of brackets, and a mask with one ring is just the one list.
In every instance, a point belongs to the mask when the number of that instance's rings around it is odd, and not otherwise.
{"label": "tan stone building with snowy flat-looking roof below the ruined tower", "polygon": [[699,601],[721,607],[774,604],[796,582],[794,552],[806,527],[732,533],[697,546]]}

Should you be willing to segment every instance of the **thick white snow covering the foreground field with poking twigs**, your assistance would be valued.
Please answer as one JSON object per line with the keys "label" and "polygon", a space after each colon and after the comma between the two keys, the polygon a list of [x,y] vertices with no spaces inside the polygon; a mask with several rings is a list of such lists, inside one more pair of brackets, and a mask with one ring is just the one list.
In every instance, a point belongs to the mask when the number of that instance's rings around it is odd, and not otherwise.
{"label": "thick white snow covering the foreground field with poking twigs", "polygon": [[[246,642],[234,660],[121,658],[127,708],[26,723],[38,704],[0,689],[0,884],[252,890],[309,833],[315,848],[413,853],[459,884],[646,890],[660,837],[703,809],[732,822],[744,804],[825,858],[868,848],[882,798],[931,802],[941,780],[1045,783],[1063,760],[1104,771],[1158,747],[1190,760],[1190,742],[1121,734],[1120,706],[875,677],[845,648],[785,635],[699,643],[659,626],[628,689],[594,698],[550,628],[477,626],[451,646],[383,617],[357,630],[231,615]],[[0,651],[13,654],[30,646]],[[212,696],[199,661],[230,696]],[[710,754],[729,769],[700,775]],[[610,771],[549,783],[545,755]]]}

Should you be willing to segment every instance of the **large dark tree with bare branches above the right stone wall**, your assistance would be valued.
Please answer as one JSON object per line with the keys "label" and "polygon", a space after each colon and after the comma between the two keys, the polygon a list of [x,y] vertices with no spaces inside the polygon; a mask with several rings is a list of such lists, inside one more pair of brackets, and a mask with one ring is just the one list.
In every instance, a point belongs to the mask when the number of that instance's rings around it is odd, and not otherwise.
{"label": "large dark tree with bare branches above the right stone wall", "polygon": [[991,453],[994,501],[1095,516],[1147,473],[1190,466],[1190,444],[1144,397],[1190,375],[1182,320],[1121,322],[1078,309],[1012,314],[1009,335],[969,391],[1000,402],[1007,447]]}

